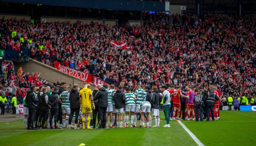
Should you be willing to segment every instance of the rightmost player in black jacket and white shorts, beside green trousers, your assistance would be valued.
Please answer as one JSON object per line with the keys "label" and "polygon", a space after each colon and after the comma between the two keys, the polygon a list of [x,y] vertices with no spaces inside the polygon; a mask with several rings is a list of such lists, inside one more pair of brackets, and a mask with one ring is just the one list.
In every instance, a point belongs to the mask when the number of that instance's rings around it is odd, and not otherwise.
{"label": "rightmost player in black jacket and white shorts, beside green trousers", "polygon": [[159,127],[159,123],[160,123],[159,108],[160,108],[160,102],[162,101],[162,97],[160,96],[159,90],[157,89],[156,86],[153,86],[151,89],[153,91],[151,96],[151,108],[152,108],[152,115],[155,123],[153,127]]}

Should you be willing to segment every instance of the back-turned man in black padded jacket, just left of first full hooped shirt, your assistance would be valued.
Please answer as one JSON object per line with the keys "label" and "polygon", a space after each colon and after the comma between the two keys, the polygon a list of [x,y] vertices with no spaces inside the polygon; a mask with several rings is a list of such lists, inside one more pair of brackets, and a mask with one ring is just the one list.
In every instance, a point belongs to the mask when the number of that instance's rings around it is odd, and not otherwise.
{"label": "back-turned man in black padded jacket, just left of first full hooped shirt", "polygon": [[54,128],[55,129],[59,129],[59,127],[56,126],[57,124],[57,117],[58,117],[58,113],[59,113],[59,95],[58,95],[58,88],[54,88],[52,91],[52,95],[49,96],[48,99],[48,105],[50,105],[50,111],[51,111],[51,117],[50,117],[50,127],[51,129],[53,129],[52,127],[52,118],[54,115]]}

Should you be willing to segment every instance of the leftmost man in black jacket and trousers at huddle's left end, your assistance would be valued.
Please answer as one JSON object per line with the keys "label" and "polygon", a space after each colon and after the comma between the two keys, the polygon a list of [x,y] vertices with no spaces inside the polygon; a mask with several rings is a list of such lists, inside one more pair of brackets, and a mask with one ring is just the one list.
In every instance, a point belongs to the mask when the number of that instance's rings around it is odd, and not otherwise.
{"label": "leftmost man in black jacket and trousers at huddle's left end", "polygon": [[[30,90],[27,91],[27,96],[26,96],[26,103],[28,105],[28,130],[36,130],[34,127],[34,121],[36,118],[36,106],[37,102],[39,101],[36,99],[36,86],[32,85],[30,86]],[[33,121],[33,123],[31,122]]]}

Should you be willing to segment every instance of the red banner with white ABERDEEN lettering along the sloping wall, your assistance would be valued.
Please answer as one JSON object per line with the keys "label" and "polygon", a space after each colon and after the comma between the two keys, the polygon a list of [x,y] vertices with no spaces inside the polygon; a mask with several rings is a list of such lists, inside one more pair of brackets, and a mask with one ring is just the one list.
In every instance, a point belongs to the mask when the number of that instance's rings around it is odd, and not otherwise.
{"label": "red banner with white ABERDEEN lettering along the sloping wall", "polygon": [[90,83],[92,82],[92,75],[84,73],[80,70],[76,70],[76,69],[72,69],[70,67],[67,66],[63,66],[60,64],[60,62],[55,62],[55,69],[60,70],[68,75],[71,75],[73,77],[77,77],[81,80],[83,80],[84,82]]}

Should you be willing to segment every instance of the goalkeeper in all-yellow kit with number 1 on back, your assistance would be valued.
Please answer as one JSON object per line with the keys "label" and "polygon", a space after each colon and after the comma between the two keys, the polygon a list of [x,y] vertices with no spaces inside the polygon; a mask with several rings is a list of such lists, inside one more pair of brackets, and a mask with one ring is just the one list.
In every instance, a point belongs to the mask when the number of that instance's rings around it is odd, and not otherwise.
{"label": "goalkeeper in all-yellow kit with number 1 on back", "polygon": [[85,114],[87,117],[87,129],[90,127],[92,108],[95,109],[92,97],[92,90],[87,88],[88,83],[84,82],[84,88],[79,91],[79,101],[82,104],[81,110],[83,113],[82,123],[83,129],[85,129]]}

